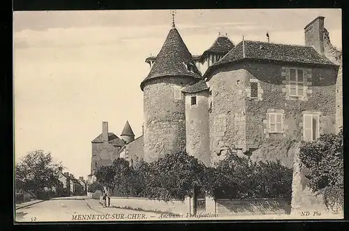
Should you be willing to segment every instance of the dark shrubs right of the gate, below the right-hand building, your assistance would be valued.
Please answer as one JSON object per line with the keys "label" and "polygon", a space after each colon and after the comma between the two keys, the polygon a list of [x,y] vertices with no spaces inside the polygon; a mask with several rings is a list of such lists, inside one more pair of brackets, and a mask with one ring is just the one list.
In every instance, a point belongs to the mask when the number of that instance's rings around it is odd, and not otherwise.
{"label": "dark shrubs right of the gate, below the right-hand building", "polygon": [[292,169],[279,161],[253,162],[228,152],[207,168],[207,192],[214,198],[290,198]]}

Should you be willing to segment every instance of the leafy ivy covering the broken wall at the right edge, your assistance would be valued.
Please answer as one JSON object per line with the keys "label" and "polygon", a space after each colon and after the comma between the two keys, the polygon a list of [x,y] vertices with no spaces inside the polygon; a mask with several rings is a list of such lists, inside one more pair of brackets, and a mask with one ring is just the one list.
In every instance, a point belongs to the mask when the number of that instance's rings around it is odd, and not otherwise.
{"label": "leafy ivy covering the broken wall at the right edge", "polygon": [[322,134],[317,141],[303,142],[299,159],[309,170],[309,187],[320,191],[328,209],[343,206],[343,129],[338,134]]}

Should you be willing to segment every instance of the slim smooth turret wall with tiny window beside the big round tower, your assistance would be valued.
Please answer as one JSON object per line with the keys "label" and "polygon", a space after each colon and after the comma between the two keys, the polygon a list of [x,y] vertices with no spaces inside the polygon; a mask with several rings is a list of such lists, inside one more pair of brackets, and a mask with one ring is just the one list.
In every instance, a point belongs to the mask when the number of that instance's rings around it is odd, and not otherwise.
{"label": "slim smooth turret wall with tiny window beside the big round tower", "polygon": [[[196,104],[191,105],[191,97]],[[209,154],[209,93],[186,93],[186,152],[210,165]]]}

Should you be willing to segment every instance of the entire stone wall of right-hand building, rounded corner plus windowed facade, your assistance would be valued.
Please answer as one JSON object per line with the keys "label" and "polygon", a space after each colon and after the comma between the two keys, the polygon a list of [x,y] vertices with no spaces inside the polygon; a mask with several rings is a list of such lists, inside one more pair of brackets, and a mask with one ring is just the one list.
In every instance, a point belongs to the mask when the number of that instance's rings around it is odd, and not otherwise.
{"label": "entire stone wall of right-hand building, rounded corner plus windowed facade", "polygon": [[[290,66],[293,67],[293,66]],[[296,66],[297,67],[297,66]],[[209,79],[212,96],[210,150],[212,161],[222,146],[242,150],[252,160],[276,161],[292,168],[292,141],[303,140],[303,112],[320,114],[320,134],[336,132],[336,70],[304,68],[304,97],[288,96],[288,66],[273,63],[238,63],[221,68]],[[251,83],[258,82],[258,97],[251,98]],[[268,130],[268,113],[283,113],[283,132]]]}

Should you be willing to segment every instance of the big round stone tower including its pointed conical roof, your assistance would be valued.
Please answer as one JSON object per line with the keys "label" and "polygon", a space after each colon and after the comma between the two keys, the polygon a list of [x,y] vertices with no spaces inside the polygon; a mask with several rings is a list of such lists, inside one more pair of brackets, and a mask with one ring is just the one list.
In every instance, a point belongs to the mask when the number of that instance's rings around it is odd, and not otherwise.
{"label": "big round stone tower including its pointed conical roof", "polygon": [[144,161],[186,148],[185,99],[181,88],[202,79],[174,24],[140,84],[144,92]]}

